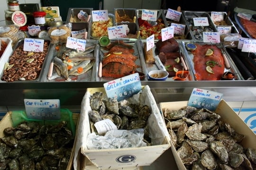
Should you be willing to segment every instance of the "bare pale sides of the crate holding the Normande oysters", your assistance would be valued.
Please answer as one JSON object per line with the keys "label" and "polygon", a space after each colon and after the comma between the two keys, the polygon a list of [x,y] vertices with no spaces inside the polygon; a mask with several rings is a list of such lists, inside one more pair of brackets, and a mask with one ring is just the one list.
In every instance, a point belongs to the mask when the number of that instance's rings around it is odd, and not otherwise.
{"label": "bare pale sides of the crate holding the Normande oysters", "polygon": [[[161,102],[160,108],[162,113],[165,113],[165,109],[172,109],[172,110],[179,110],[183,106],[187,106],[188,101],[180,101],[180,102]],[[242,140],[240,144],[244,146],[244,148],[252,147],[256,149],[256,135],[255,133],[247,126],[247,124],[237,115],[237,113],[228,105],[227,102],[221,100],[217,109],[215,110],[221,116],[221,120],[229,123],[234,130],[239,133],[243,134],[246,137]],[[183,165],[182,160],[180,159],[174,144],[171,142],[171,149],[174,154],[174,159],[177,163],[177,167],[179,170],[186,170],[185,166]]]}

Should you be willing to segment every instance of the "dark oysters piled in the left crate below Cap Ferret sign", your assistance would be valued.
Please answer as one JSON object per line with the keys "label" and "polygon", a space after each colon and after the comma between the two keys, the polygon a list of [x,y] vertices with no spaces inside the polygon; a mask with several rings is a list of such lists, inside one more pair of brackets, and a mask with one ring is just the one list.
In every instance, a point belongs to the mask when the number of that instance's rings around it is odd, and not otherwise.
{"label": "dark oysters piled in the left crate below Cap Ferret sign", "polygon": [[5,128],[0,139],[0,170],[66,170],[74,142],[66,124],[24,121]]}

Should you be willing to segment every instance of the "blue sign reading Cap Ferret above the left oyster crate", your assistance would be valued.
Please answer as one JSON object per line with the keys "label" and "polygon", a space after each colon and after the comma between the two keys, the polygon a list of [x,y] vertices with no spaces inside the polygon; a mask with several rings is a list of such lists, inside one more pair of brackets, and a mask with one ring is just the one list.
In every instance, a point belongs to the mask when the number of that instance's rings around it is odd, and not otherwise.
{"label": "blue sign reading Cap Ferret above the left oyster crate", "polygon": [[24,104],[29,119],[61,119],[59,99],[24,99]]}

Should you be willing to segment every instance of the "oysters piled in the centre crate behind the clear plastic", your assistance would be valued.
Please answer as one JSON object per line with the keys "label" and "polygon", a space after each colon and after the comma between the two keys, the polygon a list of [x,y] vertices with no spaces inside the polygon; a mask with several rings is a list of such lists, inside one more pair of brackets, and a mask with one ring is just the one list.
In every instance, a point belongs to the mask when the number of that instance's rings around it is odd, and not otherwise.
{"label": "oysters piled in the centre crate behind the clear plastic", "polygon": [[117,99],[107,98],[102,92],[93,93],[90,97],[91,110],[89,111],[91,132],[97,133],[93,126],[94,123],[103,119],[110,119],[117,126],[117,129],[144,128],[144,139],[149,144],[150,137],[148,137],[146,121],[151,114],[151,110],[147,105],[141,105],[139,102],[129,102],[128,100],[118,102]]}

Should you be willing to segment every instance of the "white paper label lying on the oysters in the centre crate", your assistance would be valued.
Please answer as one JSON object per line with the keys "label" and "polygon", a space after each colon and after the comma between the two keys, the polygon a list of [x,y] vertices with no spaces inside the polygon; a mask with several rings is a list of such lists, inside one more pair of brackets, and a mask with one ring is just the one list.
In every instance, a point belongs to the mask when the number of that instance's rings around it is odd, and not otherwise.
{"label": "white paper label lying on the oysters in the centre crate", "polygon": [[103,135],[110,130],[117,130],[117,126],[110,119],[98,121],[94,123],[94,127],[97,129],[99,135]]}

